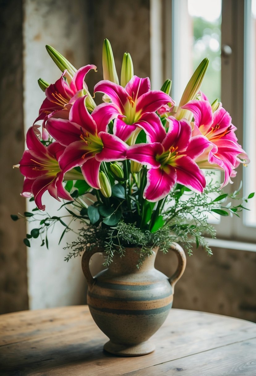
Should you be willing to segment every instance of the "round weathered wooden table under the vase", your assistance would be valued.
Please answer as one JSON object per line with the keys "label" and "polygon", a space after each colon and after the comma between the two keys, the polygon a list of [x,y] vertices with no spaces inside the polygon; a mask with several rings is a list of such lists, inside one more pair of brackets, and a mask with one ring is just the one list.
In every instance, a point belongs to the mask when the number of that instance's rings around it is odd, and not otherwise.
{"label": "round weathered wooden table under the vase", "polygon": [[121,358],[102,350],[107,337],[87,306],[0,316],[1,376],[256,375],[256,324],[171,309],[152,337],[155,352]]}

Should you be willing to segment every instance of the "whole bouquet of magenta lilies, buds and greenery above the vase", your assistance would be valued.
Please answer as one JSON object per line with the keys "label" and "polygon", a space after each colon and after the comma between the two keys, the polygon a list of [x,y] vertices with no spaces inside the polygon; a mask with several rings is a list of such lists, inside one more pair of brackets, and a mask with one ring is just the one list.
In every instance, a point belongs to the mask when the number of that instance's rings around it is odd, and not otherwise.
{"label": "whole bouquet of magenta lilies, buds and greenery above the vase", "polygon": [[[174,241],[188,253],[193,244],[211,254],[205,235],[215,237],[209,213],[239,215],[239,190],[225,193],[236,168],[248,156],[238,144],[236,127],[218,100],[212,104],[200,91],[208,66],[194,72],[179,105],[169,96],[171,81],[151,90],[148,77],[134,75],[125,53],[119,78],[110,42],[103,44],[103,80],[93,93],[85,83],[95,65],[75,69],[59,52],[46,46],[62,71],[53,84],[39,79],[46,98],[26,136],[27,150],[17,167],[24,175],[21,193],[35,201],[32,212],[13,220],[38,220],[24,239],[41,238],[59,222],[66,232],[81,223],[67,244],[65,260],[92,247],[104,247],[105,265],[115,252],[140,247],[139,264],[155,246],[167,252]],[[101,93],[96,103],[95,93]],[[99,97],[99,94],[97,94]],[[218,182],[214,170],[222,171]],[[66,215],[45,211],[43,194],[61,201]],[[239,200],[235,202],[233,200]],[[138,266],[139,266],[138,264]]]}

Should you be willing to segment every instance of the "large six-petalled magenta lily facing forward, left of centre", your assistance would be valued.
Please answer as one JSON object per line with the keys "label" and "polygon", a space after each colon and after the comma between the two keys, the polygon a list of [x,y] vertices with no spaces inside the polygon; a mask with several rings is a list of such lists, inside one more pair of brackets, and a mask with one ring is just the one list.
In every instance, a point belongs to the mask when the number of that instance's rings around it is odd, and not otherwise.
{"label": "large six-petalled magenta lily facing forward, left of centre", "polygon": [[59,159],[63,172],[81,166],[84,179],[93,188],[100,189],[101,162],[122,161],[128,145],[115,135],[107,133],[111,114],[102,114],[98,108],[90,115],[85,106],[86,96],[78,98],[69,112],[69,120],[51,117],[46,124],[50,135],[66,146]]}

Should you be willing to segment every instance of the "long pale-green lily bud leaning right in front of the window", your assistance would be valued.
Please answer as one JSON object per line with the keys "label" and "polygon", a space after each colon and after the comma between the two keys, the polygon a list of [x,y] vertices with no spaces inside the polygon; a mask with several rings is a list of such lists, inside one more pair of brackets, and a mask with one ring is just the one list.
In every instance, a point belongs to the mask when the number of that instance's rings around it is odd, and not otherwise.
{"label": "long pale-green lily bud leaning right in front of the window", "polygon": [[175,118],[177,120],[181,120],[182,118],[186,118],[188,121],[192,120],[193,114],[191,113],[191,111],[182,109],[181,107],[188,103],[190,100],[196,98],[196,94],[200,90],[200,87],[203,82],[203,77],[205,76],[208,65],[209,60],[205,58],[194,71],[191,79],[189,80],[184,90],[184,93],[182,94],[181,102],[179,102],[178,111],[175,115]]}

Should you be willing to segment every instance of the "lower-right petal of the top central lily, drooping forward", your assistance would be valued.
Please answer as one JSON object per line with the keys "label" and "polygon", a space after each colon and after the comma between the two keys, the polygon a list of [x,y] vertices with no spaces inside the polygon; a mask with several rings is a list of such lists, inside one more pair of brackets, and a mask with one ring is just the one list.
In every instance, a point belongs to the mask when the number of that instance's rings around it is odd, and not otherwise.
{"label": "lower-right petal of the top central lily, drooping forward", "polygon": [[155,112],[143,114],[136,125],[145,130],[149,142],[161,143],[166,136],[166,130]]}

